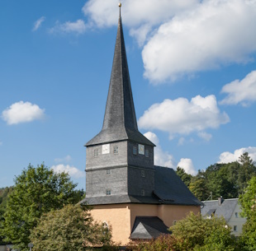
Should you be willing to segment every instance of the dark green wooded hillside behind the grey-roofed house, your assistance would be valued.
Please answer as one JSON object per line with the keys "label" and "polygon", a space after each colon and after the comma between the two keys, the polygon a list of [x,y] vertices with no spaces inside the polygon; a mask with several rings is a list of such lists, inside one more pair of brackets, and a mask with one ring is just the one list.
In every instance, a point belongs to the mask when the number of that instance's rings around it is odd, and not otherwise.
{"label": "dark green wooded hillside behind the grey-roofed house", "polygon": [[201,201],[207,199],[239,198],[249,180],[256,175],[256,166],[245,152],[238,161],[228,164],[217,163],[206,170],[198,170],[196,176],[186,174],[178,168],[176,173]]}

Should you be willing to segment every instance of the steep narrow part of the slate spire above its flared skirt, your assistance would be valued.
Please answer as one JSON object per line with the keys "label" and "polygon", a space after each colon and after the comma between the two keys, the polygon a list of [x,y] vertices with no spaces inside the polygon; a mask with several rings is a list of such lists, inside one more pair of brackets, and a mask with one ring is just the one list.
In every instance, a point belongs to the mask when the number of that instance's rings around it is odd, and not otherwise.
{"label": "steep narrow part of the slate spire above its flared skirt", "polygon": [[120,126],[133,131],[138,130],[130,88],[130,76],[121,16],[118,21],[115,54],[102,130]]}

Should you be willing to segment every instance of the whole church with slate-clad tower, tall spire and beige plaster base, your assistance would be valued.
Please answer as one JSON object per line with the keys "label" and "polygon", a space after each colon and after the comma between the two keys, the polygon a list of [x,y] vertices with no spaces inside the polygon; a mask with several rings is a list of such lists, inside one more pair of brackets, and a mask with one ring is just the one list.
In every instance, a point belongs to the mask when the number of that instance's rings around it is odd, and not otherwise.
{"label": "whole church with slate-clad tower, tall spire and beige plaster base", "polygon": [[154,165],[155,145],[138,130],[121,15],[102,131],[85,146],[83,202],[94,220],[111,226],[113,241],[156,238],[200,212],[201,202],[175,171]]}

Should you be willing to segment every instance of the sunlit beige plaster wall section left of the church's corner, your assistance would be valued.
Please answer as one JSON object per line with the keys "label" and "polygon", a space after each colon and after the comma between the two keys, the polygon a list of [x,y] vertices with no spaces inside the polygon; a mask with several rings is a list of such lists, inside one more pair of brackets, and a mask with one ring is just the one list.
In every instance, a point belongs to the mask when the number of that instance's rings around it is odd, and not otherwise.
{"label": "sunlit beige plaster wall section left of the church's corner", "polygon": [[114,242],[125,245],[130,241],[129,204],[94,206],[91,213],[95,221],[106,221],[107,225],[111,225]]}

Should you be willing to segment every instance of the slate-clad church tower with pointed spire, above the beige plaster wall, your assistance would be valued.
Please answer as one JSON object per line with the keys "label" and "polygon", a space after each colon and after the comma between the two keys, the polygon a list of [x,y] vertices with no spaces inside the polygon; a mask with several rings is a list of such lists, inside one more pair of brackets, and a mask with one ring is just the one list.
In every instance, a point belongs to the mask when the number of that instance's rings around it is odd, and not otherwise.
{"label": "slate-clad church tower with pointed spire, above the beige plaster wall", "polygon": [[[102,131],[87,144],[88,202],[130,201],[154,191],[154,144],[137,126],[121,16]],[[102,197],[110,196],[110,198]]]}

